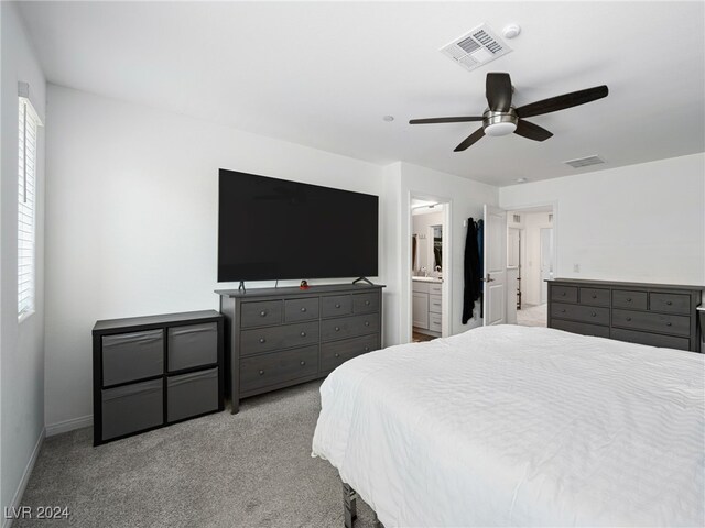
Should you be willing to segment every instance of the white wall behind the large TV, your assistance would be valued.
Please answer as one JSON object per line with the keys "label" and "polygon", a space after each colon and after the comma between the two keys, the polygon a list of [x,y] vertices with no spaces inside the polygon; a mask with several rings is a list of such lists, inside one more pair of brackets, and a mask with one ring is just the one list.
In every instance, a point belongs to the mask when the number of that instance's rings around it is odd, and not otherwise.
{"label": "white wall behind the large TV", "polygon": [[218,168],[383,184],[377,165],[54,85],[46,155],[51,431],[89,420],[96,320],[218,308],[232,286],[216,284]]}

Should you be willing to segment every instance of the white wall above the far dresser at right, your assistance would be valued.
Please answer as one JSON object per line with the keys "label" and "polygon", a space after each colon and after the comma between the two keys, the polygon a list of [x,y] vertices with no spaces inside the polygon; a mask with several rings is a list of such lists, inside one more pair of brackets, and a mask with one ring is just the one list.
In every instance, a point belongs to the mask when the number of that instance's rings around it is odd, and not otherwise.
{"label": "white wall above the far dresser at right", "polygon": [[499,190],[503,209],[554,201],[556,277],[705,284],[705,154]]}

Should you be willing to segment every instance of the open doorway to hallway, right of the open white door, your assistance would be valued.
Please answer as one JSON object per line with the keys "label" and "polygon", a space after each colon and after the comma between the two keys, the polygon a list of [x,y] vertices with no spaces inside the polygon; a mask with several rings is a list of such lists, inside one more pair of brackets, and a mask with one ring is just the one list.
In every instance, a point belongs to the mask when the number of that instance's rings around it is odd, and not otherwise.
{"label": "open doorway to hallway, right of the open white door", "polygon": [[513,272],[509,289],[516,293],[511,308],[516,307],[517,324],[547,323],[546,280],[554,278],[556,261],[554,209],[550,205],[507,211],[507,268]]}

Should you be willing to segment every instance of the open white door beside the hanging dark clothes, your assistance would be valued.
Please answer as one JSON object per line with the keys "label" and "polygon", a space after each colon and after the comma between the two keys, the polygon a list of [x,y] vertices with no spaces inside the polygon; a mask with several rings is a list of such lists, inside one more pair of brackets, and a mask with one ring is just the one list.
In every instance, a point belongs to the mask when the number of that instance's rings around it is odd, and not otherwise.
{"label": "open white door beside the hanging dark clothes", "polygon": [[485,326],[507,322],[507,211],[485,205]]}

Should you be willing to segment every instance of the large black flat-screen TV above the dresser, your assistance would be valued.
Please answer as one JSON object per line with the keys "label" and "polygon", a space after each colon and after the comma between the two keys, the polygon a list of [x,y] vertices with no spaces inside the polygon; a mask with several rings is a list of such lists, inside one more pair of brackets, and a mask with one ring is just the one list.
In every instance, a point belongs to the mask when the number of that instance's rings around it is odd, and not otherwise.
{"label": "large black flat-screen TV above the dresser", "polygon": [[218,282],[373,277],[373,195],[220,169]]}

